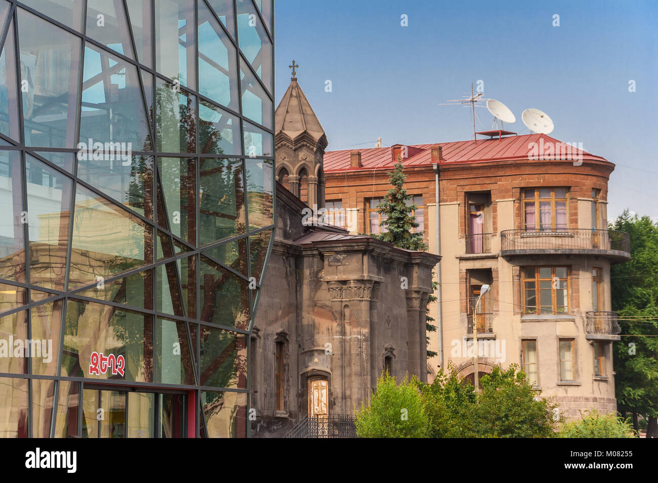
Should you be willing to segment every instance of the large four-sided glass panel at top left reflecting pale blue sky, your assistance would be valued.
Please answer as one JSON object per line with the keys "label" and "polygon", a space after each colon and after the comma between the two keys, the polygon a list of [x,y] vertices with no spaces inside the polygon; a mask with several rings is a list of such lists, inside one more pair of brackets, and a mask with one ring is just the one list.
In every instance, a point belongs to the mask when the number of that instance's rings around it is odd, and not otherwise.
{"label": "large four-sided glass panel at top left reflecting pale blue sky", "polygon": [[25,144],[76,146],[80,39],[18,9]]}

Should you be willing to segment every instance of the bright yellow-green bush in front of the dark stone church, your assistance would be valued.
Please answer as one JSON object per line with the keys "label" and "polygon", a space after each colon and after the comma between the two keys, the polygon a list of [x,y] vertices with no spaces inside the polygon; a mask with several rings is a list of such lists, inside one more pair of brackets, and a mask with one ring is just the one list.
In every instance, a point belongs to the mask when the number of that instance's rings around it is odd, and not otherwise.
{"label": "bright yellow-green bush in front of the dark stone church", "polygon": [[406,377],[398,385],[388,372],[377,380],[370,403],[357,411],[360,438],[425,438],[428,418],[424,412],[416,377]]}

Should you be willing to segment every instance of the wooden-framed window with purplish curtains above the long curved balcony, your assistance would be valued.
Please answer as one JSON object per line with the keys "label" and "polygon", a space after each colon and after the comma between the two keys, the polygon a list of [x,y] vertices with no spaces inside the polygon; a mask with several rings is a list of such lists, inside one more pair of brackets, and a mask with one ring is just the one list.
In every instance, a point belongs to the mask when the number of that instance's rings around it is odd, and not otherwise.
{"label": "wooden-framed window with purplish curtains above the long curved balcony", "polygon": [[523,190],[526,231],[567,229],[567,189],[528,188]]}

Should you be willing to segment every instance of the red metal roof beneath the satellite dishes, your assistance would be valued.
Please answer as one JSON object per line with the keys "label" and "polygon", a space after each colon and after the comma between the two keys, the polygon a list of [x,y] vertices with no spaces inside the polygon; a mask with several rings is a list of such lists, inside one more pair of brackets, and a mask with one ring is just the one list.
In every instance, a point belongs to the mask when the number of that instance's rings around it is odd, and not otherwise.
{"label": "red metal roof beneath the satellite dishes", "polygon": [[[533,144],[534,143],[534,144]],[[528,160],[537,154],[540,159],[560,160],[579,158],[607,162],[601,156],[576,149],[563,141],[545,134],[526,134],[521,136],[501,137],[500,139],[478,139],[478,141],[454,141],[452,143],[438,143],[442,147],[443,160],[440,164],[492,162],[499,160]],[[406,167],[432,166],[433,144],[409,145],[409,148],[420,149],[415,154],[409,153],[408,158],[402,160]],[[550,149],[550,150],[549,150]],[[360,168],[351,168],[349,153],[351,149],[340,151],[327,151],[324,153],[324,172],[364,171],[381,168],[392,168],[393,148],[359,149],[361,152]],[[543,153],[543,154],[542,154]],[[562,154],[557,155],[557,154]],[[565,156],[565,153],[568,153]],[[580,159],[580,158],[579,158]]]}

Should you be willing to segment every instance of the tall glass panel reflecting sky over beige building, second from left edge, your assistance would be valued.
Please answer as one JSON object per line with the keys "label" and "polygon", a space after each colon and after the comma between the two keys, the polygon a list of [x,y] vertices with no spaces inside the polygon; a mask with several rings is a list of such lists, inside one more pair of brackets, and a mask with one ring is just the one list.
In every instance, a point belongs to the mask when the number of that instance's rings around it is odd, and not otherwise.
{"label": "tall glass panel reflecting sky over beige building, second from left edge", "polygon": [[30,283],[64,290],[70,218],[70,178],[26,154]]}

